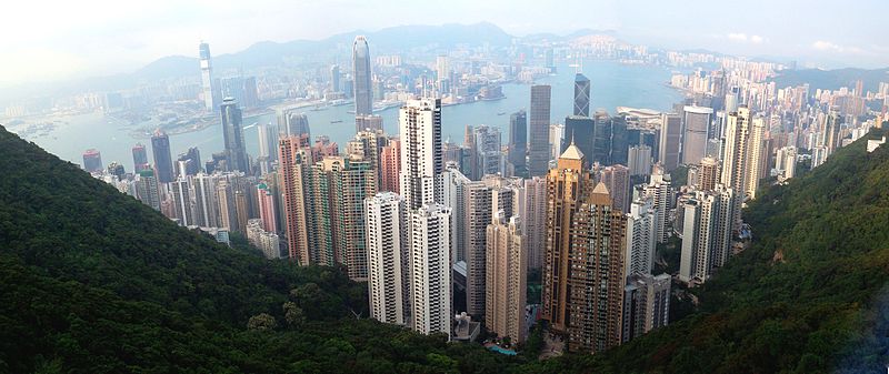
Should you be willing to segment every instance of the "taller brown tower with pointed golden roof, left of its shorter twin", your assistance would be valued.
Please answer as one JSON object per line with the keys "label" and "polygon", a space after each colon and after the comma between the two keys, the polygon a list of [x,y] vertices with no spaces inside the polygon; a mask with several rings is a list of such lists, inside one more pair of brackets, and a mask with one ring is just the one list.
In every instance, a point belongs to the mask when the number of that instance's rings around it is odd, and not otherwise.
{"label": "taller brown tower with pointed golden roof, left of its shorter twin", "polygon": [[572,143],[547,175],[547,252],[541,309],[550,328],[561,333],[568,331],[571,228],[592,183],[585,163],[586,156]]}

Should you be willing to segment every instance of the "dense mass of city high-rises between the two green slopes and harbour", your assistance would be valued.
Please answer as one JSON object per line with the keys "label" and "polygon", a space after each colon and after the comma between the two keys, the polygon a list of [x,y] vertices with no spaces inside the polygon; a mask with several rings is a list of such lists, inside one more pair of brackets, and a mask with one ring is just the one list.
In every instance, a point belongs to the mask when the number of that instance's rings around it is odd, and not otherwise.
{"label": "dense mass of city high-rises between the two green slopes and harbour", "polygon": [[[538,67],[510,74],[532,82],[555,70],[555,55],[716,68],[675,74],[670,84],[687,99],[671,111],[620,107],[612,115],[591,110],[595,82],[577,65],[573,111],[562,123],[550,121],[552,87],[531,84],[528,110],[510,113],[506,137],[467,125],[457,144],[442,139],[442,107],[469,97],[467,88],[478,92],[472,100],[497,99],[499,87],[457,77],[438,55],[434,79],[381,94],[383,75],[371,68],[399,59],[371,63],[359,37],[351,73],[331,67],[329,87],[316,94],[354,102],[354,138],[342,150],[313,139],[306,107],[283,105],[277,123],[258,124],[251,158],[241,105],[257,105],[256,82],[220,88],[202,43],[200,97],[217,112],[224,150],[203,163],[197,148],[173,159],[158,130],[153,163],[144,145],[133,146],[134,173],[104,168],[97,150],[83,166],[220,242],[240,233],[270,260],[342,266],[367,282],[378,321],[450,341],[493,336],[491,348],[507,354],[542,324],[550,352],[597,353],[668,325],[671,302],[749,246],[755,233],[742,211],[763,185],[823,164],[887,120],[889,83],[878,92],[860,81],[777,88],[768,80],[787,67],[776,63],[663,57],[601,37],[575,43],[542,48]],[[373,114],[380,103],[400,105],[397,134]],[[671,241],[678,249],[667,255]],[[532,284],[539,302],[528,297]]]}

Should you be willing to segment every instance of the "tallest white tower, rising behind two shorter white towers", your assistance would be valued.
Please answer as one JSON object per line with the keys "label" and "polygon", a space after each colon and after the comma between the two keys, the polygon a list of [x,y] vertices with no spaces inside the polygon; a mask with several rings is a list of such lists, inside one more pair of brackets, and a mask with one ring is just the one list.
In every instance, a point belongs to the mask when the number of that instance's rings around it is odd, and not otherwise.
{"label": "tallest white tower, rising behind two shorter white towers", "polygon": [[442,201],[441,101],[409,100],[399,112],[401,196],[407,209]]}

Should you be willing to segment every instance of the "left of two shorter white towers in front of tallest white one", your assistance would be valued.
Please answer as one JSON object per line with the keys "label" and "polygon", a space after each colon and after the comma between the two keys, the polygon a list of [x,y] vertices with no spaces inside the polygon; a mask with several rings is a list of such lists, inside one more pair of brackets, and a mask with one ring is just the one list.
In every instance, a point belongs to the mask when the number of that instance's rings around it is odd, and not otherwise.
{"label": "left of two shorter white towers in front of tallest white one", "polygon": [[364,200],[370,315],[404,325],[410,315],[410,254],[404,200],[380,192]]}

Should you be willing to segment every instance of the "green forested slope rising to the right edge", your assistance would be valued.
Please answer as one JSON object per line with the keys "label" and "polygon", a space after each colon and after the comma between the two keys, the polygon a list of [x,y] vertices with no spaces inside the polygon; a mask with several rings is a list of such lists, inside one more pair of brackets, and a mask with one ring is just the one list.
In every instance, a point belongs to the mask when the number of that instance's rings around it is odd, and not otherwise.
{"label": "green forested slope rising to the right edge", "polygon": [[[871,137],[876,137],[871,133]],[[700,311],[558,371],[868,373],[889,363],[889,146],[865,140],[752,202],[753,244],[699,290]]]}

